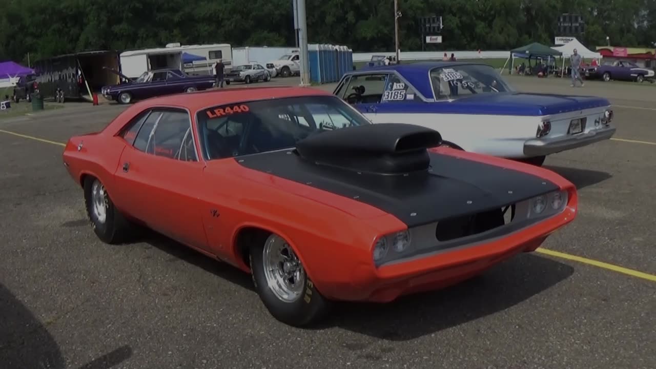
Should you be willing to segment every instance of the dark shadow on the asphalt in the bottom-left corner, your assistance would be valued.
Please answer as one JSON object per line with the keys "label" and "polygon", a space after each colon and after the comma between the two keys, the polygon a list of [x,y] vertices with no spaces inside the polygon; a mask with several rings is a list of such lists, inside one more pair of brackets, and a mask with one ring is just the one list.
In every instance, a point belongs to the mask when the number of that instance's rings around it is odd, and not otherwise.
{"label": "dark shadow on the asphalt in the bottom-left corner", "polygon": [[[79,369],[110,369],[132,357],[130,346],[121,346]],[[0,367],[2,369],[65,369],[59,345],[34,316],[0,284]]]}

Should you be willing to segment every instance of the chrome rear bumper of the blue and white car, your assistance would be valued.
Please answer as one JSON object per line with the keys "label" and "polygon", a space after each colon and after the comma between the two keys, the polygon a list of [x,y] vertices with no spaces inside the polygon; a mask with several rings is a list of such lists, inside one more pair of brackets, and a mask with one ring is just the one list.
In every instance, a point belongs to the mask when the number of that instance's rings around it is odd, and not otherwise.
{"label": "chrome rear bumper of the blue and white car", "polygon": [[567,135],[564,137],[554,137],[552,139],[543,137],[541,139],[531,139],[524,142],[523,152],[527,157],[546,156],[556,154],[565,150],[587,146],[594,142],[610,139],[615,134],[616,128],[613,125],[601,129],[579,133],[577,135]]}

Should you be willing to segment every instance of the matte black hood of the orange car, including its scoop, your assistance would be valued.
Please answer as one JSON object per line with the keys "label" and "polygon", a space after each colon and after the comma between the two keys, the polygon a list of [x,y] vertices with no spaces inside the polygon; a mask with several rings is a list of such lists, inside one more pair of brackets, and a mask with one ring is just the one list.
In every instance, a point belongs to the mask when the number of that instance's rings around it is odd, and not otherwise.
{"label": "matte black hood of the orange car, including its scoop", "polygon": [[237,162],[364,202],[408,227],[558,190],[535,175],[426,150],[440,139],[436,131],[415,125],[374,124],[319,133],[295,150],[243,156]]}

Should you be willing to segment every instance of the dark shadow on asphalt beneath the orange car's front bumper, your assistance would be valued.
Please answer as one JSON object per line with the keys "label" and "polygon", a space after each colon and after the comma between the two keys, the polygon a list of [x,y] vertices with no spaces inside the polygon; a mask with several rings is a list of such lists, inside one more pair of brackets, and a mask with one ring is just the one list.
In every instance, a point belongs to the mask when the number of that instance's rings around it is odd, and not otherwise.
{"label": "dark shadow on asphalt beneath the orange car's front bumper", "polygon": [[[565,280],[573,271],[553,259],[520,254],[445,290],[383,305],[339,304],[329,325],[378,339],[406,341],[504,311]],[[345,347],[364,349],[357,342]]]}

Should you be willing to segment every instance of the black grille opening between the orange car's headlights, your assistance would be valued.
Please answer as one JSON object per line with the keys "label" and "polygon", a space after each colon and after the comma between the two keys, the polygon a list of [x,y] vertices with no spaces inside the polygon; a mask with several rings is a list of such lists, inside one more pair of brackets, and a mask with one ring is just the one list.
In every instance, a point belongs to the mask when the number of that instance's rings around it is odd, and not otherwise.
{"label": "black grille opening between the orange car's headlights", "polygon": [[515,209],[516,206],[513,204],[482,213],[439,221],[435,228],[435,237],[440,242],[446,242],[502,227],[514,219]]}

